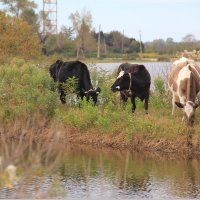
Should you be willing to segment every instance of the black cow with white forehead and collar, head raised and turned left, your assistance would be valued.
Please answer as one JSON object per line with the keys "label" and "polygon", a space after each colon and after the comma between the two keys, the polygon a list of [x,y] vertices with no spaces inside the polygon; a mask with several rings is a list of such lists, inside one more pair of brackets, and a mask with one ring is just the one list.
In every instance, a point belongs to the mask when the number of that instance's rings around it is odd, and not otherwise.
{"label": "black cow with white forehead and collar, head raised and turned left", "polygon": [[131,97],[132,112],[136,109],[136,97],[139,97],[141,101],[145,100],[145,112],[148,113],[151,77],[144,65],[135,65],[133,68],[133,72],[121,70],[116,81],[111,86],[111,90],[113,92],[125,91],[126,101],[128,97]]}

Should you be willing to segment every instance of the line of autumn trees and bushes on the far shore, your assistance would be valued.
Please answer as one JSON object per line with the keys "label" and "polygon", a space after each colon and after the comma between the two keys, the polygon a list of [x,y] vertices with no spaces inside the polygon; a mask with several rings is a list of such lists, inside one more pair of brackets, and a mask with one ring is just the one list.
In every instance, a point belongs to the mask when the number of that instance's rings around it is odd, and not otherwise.
{"label": "line of autumn trees and bushes on the far shore", "polygon": [[[184,50],[199,53],[200,41],[194,35],[187,34],[181,42],[173,38],[140,42],[127,37],[117,30],[109,33],[96,31],[92,27],[92,15],[89,11],[70,14],[71,27],[62,26],[59,33],[43,34],[42,22],[48,15],[36,13],[37,5],[30,0],[0,0],[4,10],[0,12],[0,53],[8,56],[34,57],[40,55],[61,54],[65,57],[122,57],[135,59],[139,55],[154,57],[158,55],[174,56]],[[3,44],[3,45],[2,45]]]}

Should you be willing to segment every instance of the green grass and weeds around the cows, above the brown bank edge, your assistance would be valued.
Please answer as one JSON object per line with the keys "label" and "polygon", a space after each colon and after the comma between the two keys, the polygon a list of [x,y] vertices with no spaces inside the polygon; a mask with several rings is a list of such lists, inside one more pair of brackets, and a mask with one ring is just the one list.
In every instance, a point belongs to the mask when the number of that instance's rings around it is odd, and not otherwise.
{"label": "green grass and weeds around the cows, above the brown bank edge", "polygon": [[[11,120],[42,113],[44,117],[56,119],[65,125],[79,130],[96,130],[101,134],[124,134],[131,139],[142,135],[147,139],[176,138],[186,134],[181,122],[182,113],[177,109],[171,115],[171,95],[164,89],[164,82],[158,77],[155,91],[151,92],[149,114],[144,113],[144,102],[137,100],[137,109],[131,112],[131,102],[123,107],[119,95],[110,91],[114,75],[105,71],[97,73],[91,70],[95,81],[98,80],[102,92],[101,103],[72,102],[62,105],[59,94],[51,90],[55,87],[48,70],[21,59],[14,59],[10,64],[0,66],[0,119]],[[195,133],[199,135],[199,112],[195,121]]]}

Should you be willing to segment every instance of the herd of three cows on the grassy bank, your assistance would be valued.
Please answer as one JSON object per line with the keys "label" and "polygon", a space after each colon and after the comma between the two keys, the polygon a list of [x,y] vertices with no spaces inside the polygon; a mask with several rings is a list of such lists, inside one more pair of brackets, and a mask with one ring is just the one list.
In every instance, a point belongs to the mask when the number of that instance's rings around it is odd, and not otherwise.
{"label": "herd of three cows on the grassy bank", "polygon": [[[66,89],[63,87],[68,78],[75,77],[78,81],[76,93],[78,97],[87,101],[91,98],[96,104],[97,96],[101,92],[98,87],[93,88],[87,66],[80,61],[63,62],[57,60],[49,68],[51,77],[58,82],[60,100],[65,103]],[[135,98],[144,100],[145,112],[148,113],[151,76],[144,65],[123,63],[117,71],[117,78],[111,90],[119,91],[120,98],[126,102],[131,98],[132,112],[136,109]],[[172,92],[172,114],[175,105],[183,109],[183,121],[187,126],[193,126],[195,110],[200,105],[197,94],[200,91],[200,68],[193,60],[185,57],[173,63],[168,75],[168,85]]]}

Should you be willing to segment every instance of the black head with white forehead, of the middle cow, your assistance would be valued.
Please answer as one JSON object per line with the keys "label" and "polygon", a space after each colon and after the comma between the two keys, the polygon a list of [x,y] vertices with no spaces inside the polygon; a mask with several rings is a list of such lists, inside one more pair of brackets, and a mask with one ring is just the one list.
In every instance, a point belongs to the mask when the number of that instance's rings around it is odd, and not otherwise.
{"label": "black head with white forehead, of the middle cow", "polygon": [[125,73],[124,71],[121,71],[119,73],[119,76],[111,86],[111,90],[113,92],[122,91],[122,90],[128,90],[130,89],[130,83],[131,83],[131,77],[129,73]]}

